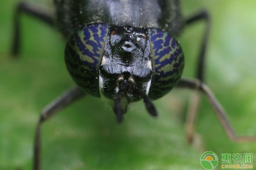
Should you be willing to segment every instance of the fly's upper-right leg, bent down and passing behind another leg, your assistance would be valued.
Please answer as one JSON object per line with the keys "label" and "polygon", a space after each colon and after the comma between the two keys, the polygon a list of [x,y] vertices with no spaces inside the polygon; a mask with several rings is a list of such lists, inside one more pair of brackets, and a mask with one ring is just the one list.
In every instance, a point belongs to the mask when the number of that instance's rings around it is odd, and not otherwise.
{"label": "fly's upper-right leg, bent down and passing behind another leg", "polygon": [[[185,23],[187,26],[189,26],[190,24],[200,20],[204,20],[206,22],[206,28],[204,31],[203,40],[201,42],[201,48],[198,54],[199,58],[198,58],[196,77],[202,82],[204,82],[204,74],[205,74],[204,67],[205,67],[205,57],[206,57],[205,51],[207,47],[209,30],[210,30],[209,14],[207,13],[207,11],[200,11],[199,13],[194,14],[191,17],[187,18]],[[186,123],[185,123],[185,128],[186,128],[186,133],[187,133],[187,138],[189,143],[192,143],[193,141],[193,137],[195,133],[195,122],[196,122],[196,117],[198,113],[198,108],[200,105],[200,99],[201,99],[201,96],[198,93],[198,91],[194,91],[189,99],[189,106],[188,106]]]}

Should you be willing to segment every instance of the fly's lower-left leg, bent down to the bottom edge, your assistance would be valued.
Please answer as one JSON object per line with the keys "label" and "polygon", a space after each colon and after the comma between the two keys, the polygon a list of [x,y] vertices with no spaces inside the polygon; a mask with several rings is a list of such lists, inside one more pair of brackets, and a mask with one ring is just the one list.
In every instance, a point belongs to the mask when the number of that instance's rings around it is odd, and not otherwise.
{"label": "fly's lower-left leg, bent down to the bottom edge", "polygon": [[35,132],[34,144],[34,170],[40,170],[40,152],[41,152],[41,125],[55,113],[84,96],[85,93],[80,88],[74,87],[58,96],[49,103],[42,111]]}

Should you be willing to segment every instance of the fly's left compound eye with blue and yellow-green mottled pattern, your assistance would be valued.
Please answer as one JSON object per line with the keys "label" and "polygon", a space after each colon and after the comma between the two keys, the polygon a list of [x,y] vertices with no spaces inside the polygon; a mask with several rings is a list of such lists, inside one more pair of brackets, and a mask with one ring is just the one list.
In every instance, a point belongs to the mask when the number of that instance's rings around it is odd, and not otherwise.
{"label": "fly's left compound eye with blue and yellow-green mottled pattern", "polygon": [[76,31],[67,41],[65,63],[82,90],[99,97],[99,66],[108,37],[107,23],[93,23]]}

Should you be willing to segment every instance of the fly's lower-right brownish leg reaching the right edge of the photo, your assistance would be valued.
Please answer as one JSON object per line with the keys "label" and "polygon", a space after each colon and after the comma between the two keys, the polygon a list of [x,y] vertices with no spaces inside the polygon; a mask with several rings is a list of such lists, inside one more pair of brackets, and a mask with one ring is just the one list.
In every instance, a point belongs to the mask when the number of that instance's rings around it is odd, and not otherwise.
{"label": "fly's lower-right brownish leg reaching the right edge of the photo", "polygon": [[211,89],[201,80],[182,78],[180,79],[180,82],[178,82],[177,87],[189,88],[203,92],[206,95],[210,105],[212,106],[212,109],[214,110],[214,113],[217,116],[219,122],[221,123],[221,126],[223,127],[225,133],[231,140],[235,142],[256,141],[256,136],[236,135],[234,128],[232,127],[227,118],[227,113],[224,111],[224,108],[221,106],[220,102],[218,102],[218,99],[216,99]]}

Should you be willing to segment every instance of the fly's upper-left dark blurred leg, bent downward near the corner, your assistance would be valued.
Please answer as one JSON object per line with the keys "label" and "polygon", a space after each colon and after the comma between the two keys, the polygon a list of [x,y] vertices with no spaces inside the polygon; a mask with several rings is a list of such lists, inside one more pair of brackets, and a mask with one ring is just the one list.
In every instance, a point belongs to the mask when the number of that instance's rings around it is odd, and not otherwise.
{"label": "fly's upper-left dark blurred leg, bent downward near the corner", "polygon": [[12,44],[12,54],[15,57],[20,50],[20,15],[22,13],[29,14],[30,16],[36,17],[41,21],[44,21],[44,23],[47,23],[50,26],[54,26],[53,17],[47,11],[38,8],[31,3],[20,2],[17,5],[14,14],[14,37]]}

